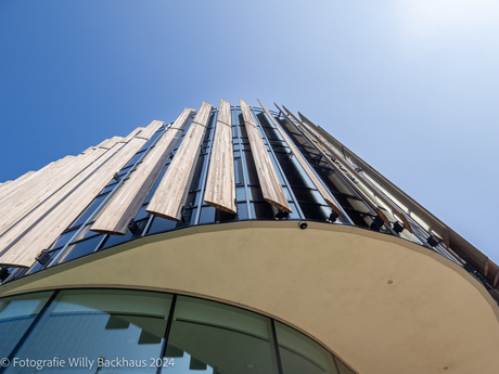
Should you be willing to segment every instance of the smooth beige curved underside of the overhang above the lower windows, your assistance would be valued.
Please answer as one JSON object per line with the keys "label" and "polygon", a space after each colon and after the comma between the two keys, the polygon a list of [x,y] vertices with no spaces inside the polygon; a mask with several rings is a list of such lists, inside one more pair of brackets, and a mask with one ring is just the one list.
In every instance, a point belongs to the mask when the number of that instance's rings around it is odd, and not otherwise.
{"label": "smooth beige curved underside of the overhang above the lower windows", "polygon": [[[392,282],[388,282],[392,281]],[[381,233],[296,222],[196,227],[0,287],[126,287],[222,300],[281,320],[361,374],[492,373],[499,308],[442,256]]]}

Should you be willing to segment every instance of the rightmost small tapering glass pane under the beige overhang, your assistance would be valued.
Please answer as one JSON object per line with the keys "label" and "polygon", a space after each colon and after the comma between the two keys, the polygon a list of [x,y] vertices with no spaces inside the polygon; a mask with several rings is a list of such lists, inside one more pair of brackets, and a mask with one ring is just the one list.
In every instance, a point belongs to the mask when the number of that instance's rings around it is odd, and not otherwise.
{"label": "rightmost small tapering glass pane under the beige overhang", "polygon": [[334,357],[328,350],[296,330],[274,323],[285,374],[341,374]]}

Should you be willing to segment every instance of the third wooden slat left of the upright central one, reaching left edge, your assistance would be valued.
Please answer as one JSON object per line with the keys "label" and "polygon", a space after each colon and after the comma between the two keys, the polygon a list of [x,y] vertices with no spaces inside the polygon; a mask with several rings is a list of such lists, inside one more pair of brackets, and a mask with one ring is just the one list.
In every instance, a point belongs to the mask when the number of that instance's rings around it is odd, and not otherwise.
{"label": "third wooden slat left of the upright central one, reaching left edge", "polygon": [[145,139],[132,138],[126,144],[116,143],[105,153],[104,163],[82,181],[68,198],[61,202],[14,243],[0,249],[0,263],[13,267],[31,266],[37,255],[57,238],[145,142]]}

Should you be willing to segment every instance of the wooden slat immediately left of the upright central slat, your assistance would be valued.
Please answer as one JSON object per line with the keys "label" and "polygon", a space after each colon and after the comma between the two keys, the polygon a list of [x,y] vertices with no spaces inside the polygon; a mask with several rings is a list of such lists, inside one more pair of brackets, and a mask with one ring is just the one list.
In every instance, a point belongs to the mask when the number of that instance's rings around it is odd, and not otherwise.
{"label": "wooden slat immediately left of the upright central slat", "polygon": [[189,185],[195,169],[195,162],[199,158],[201,142],[206,131],[212,107],[212,104],[206,102],[201,104],[177,154],[145,209],[150,214],[170,220],[180,220],[180,210],[189,193]]}

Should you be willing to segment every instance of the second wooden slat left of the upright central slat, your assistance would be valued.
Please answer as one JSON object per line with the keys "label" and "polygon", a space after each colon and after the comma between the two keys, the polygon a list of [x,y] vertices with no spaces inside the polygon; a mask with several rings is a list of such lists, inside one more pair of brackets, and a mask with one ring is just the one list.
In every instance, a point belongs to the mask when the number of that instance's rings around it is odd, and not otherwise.
{"label": "second wooden slat left of the upright central slat", "polygon": [[[195,111],[185,108],[111,198],[90,230],[126,234]],[[140,134],[139,134],[140,136]]]}

